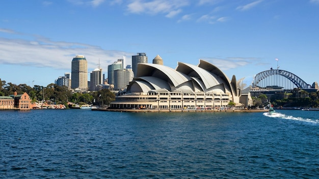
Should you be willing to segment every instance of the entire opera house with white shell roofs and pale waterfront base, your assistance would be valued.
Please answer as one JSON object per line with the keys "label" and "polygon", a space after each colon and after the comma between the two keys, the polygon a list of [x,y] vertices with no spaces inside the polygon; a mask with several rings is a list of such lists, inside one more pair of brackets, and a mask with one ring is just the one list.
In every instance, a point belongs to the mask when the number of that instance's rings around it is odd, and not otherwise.
{"label": "entire opera house with white shell roofs and pale waterfront base", "polygon": [[251,103],[242,97],[235,76],[231,80],[216,66],[200,60],[197,66],[178,63],[176,69],[158,64],[138,64],[136,77],[120,91],[110,109],[238,109]]}

